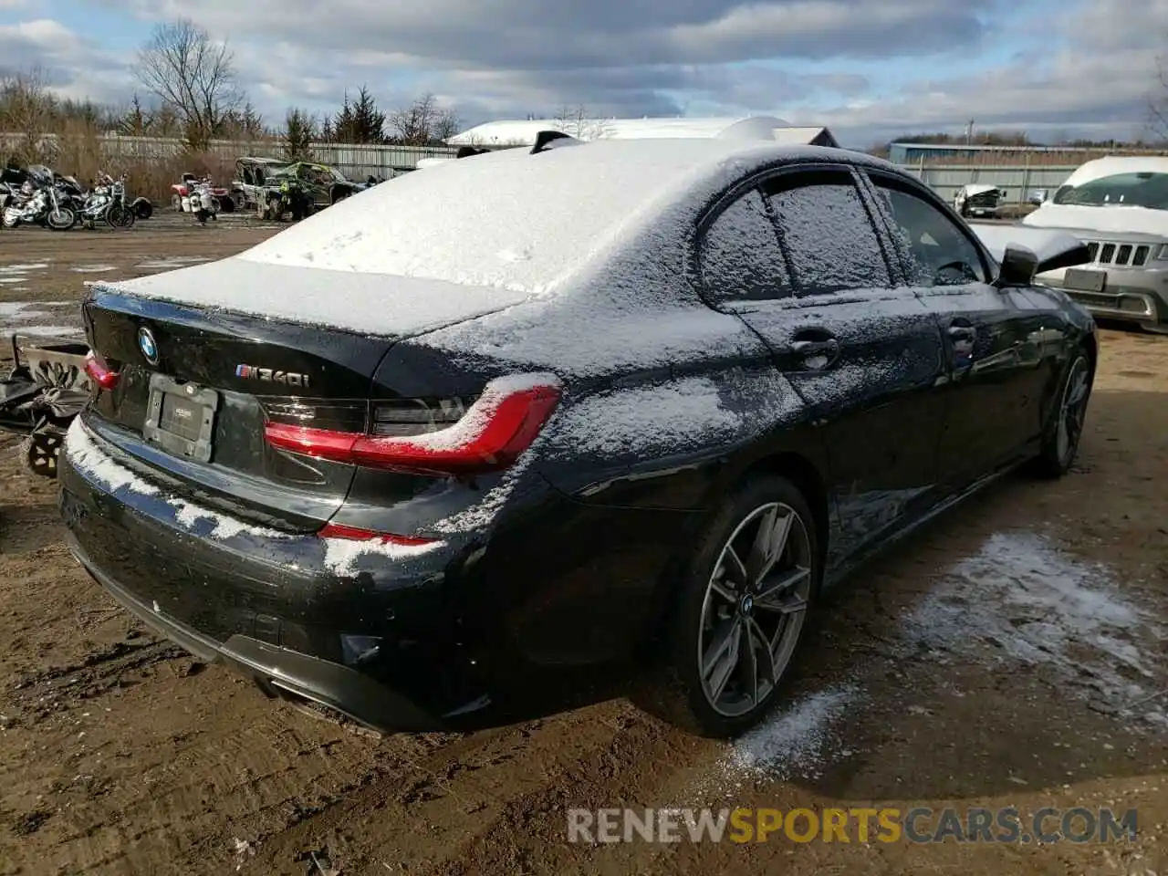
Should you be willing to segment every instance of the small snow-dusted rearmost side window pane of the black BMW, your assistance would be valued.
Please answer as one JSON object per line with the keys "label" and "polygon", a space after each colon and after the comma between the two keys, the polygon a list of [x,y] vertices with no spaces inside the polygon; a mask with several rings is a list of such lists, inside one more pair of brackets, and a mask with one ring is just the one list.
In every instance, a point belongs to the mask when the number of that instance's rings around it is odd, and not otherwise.
{"label": "small snow-dusted rearmost side window pane of the black BMW", "polygon": [[791,297],[774,223],[756,189],[717,215],[700,252],[702,285],[717,303]]}

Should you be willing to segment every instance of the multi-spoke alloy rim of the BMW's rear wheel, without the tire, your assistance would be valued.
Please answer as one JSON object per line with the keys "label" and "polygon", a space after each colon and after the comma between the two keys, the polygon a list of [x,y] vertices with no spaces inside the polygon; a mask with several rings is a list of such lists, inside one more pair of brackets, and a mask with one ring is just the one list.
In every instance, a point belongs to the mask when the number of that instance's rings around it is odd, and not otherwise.
{"label": "multi-spoke alloy rim of the BMW's rear wheel, without the tire", "polygon": [[702,691],[719,715],[757,709],[791,662],[812,593],[807,526],[791,506],[770,502],[722,547],[697,635]]}

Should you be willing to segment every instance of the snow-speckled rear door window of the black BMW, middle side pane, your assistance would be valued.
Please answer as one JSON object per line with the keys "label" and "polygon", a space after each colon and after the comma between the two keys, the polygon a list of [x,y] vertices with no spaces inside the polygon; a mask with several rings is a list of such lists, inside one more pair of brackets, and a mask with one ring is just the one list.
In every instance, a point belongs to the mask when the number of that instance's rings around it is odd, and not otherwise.
{"label": "snow-speckled rear door window of the black BMW, middle side pane", "polygon": [[784,174],[765,193],[800,294],[891,286],[880,237],[850,173]]}

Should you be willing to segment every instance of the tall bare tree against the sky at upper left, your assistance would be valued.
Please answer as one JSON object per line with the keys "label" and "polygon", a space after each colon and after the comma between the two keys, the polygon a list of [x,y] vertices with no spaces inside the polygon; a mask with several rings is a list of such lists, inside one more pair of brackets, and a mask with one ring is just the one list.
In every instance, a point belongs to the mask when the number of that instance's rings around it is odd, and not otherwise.
{"label": "tall bare tree against the sky at upper left", "polygon": [[193,152],[203,152],[243,103],[227,43],[189,19],[155,25],[133,72],[174,111]]}

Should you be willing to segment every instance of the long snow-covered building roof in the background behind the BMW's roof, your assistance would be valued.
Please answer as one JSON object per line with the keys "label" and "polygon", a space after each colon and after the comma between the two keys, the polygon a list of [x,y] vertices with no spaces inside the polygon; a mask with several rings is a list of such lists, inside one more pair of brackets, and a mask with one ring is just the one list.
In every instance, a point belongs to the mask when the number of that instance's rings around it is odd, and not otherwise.
{"label": "long snow-covered building roof in the background behind the BMW's roof", "polygon": [[564,131],[582,140],[742,138],[790,145],[836,145],[823,127],[795,127],[774,116],[656,119],[527,119],[487,121],[446,140],[451,146],[531,146],[541,131]]}

